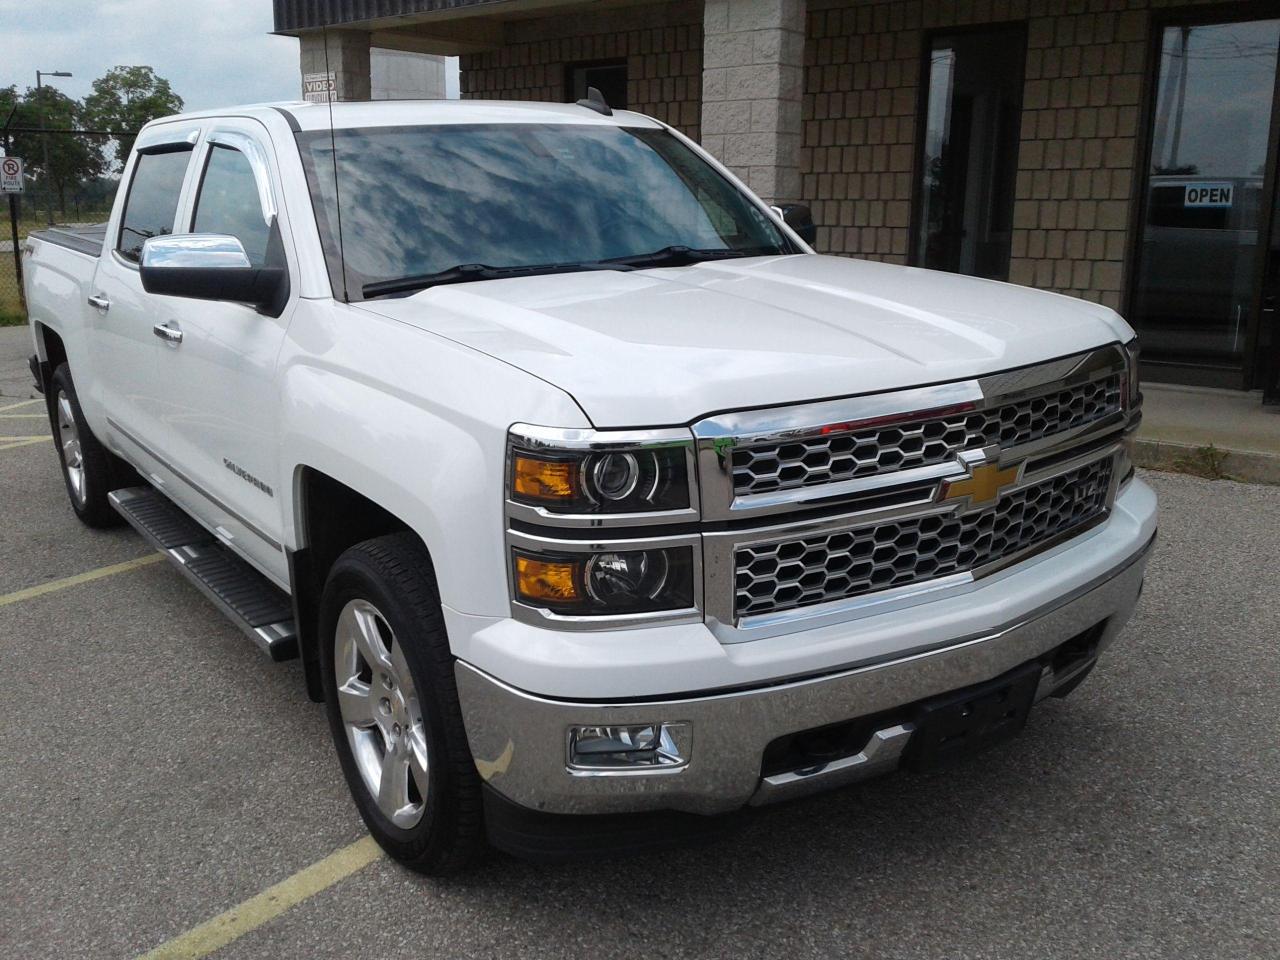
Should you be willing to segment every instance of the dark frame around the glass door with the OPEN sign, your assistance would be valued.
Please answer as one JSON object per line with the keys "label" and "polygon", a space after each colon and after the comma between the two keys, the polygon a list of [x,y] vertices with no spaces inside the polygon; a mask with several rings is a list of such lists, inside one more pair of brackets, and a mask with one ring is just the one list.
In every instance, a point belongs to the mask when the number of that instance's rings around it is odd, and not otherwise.
{"label": "dark frame around the glass door with the OPEN sign", "polygon": [[[1134,315],[1133,311],[1138,293],[1137,280],[1142,261],[1142,238],[1147,223],[1147,183],[1151,178],[1155,109],[1160,87],[1165,29],[1169,27],[1206,27],[1216,23],[1245,23],[1248,20],[1271,20],[1277,18],[1280,15],[1276,13],[1274,0],[1244,0],[1243,3],[1215,3],[1151,10],[1147,31],[1147,63],[1142,84],[1142,109],[1138,111],[1138,163],[1134,168],[1129,238],[1125,243],[1123,306],[1126,317]],[[1271,131],[1262,170],[1261,219],[1256,246],[1256,250],[1260,252],[1267,250],[1271,242],[1271,232],[1280,229],[1280,223],[1274,223],[1274,220],[1280,218],[1272,216],[1277,186],[1277,166],[1280,166],[1280,50],[1277,50],[1275,86],[1271,93]],[[1239,370],[1194,364],[1153,362],[1143,357],[1143,379],[1196,387],[1225,387],[1236,390],[1251,390],[1260,383],[1263,371],[1261,366],[1262,358],[1258,355],[1258,320],[1262,306],[1262,280],[1266,269],[1266,257],[1260,255],[1256,257],[1256,261],[1249,292],[1248,329],[1244,334],[1244,348]]]}

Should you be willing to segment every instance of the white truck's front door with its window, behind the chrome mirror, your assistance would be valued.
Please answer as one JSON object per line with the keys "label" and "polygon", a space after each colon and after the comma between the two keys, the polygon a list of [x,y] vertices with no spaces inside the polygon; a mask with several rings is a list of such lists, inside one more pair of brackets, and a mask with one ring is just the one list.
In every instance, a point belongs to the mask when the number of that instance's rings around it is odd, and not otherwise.
{"label": "white truck's front door with its window, behind the chrome mirror", "polygon": [[[292,234],[271,141],[256,120],[218,120],[196,156],[183,232],[236,237],[256,265],[283,264],[297,291]],[[157,340],[160,416],[170,483],[187,509],[279,584],[282,548],[275,361],[293,314],[271,317],[244,303],[166,301],[180,339]]]}

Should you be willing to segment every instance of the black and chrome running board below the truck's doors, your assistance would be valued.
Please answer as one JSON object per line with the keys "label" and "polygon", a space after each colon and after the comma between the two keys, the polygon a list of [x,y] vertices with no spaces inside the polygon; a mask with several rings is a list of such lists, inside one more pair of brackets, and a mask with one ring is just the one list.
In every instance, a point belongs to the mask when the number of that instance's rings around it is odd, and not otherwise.
{"label": "black and chrome running board below the truck's doors", "polygon": [[116,513],[160,550],[273,660],[298,655],[289,596],[224,548],[159,490],[131,486],[108,495]]}

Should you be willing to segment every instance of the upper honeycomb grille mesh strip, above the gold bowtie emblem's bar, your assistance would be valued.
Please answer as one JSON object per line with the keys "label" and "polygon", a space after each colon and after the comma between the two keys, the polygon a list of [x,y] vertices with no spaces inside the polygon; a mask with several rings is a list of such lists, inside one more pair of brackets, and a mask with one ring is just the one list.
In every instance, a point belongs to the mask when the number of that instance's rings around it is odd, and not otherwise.
{"label": "upper honeycomb grille mesh strip, above the gold bowtie emblem's bar", "polygon": [[923,413],[890,425],[736,447],[733,494],[748,497],[876,476],[1024,443],[1098,422],[1121,408],[1119,372],[984,410]]}

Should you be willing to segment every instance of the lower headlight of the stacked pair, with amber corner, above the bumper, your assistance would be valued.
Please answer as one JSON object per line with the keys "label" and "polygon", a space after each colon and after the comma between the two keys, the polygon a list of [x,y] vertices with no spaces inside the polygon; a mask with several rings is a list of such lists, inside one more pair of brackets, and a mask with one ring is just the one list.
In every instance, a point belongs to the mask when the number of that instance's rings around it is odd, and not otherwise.
{"label": "lower headlight of the stacked pair, with amber corner, above the bumper", "polygon": [[694,605],[692,549],[512,552],[520,603],[561,616],[680,611]]}

